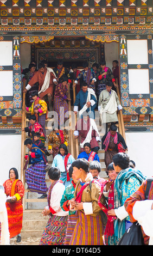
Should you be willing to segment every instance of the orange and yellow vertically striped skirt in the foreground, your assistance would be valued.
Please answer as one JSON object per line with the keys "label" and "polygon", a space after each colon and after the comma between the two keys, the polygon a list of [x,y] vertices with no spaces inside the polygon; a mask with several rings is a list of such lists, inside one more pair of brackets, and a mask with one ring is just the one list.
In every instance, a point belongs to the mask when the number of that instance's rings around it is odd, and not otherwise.
{"label": "orange and yellow vertically striped skirt in the foreground", "polygon": [[103,224],[100,216],[93,217],[80,211],[69,245],[103,244]]}

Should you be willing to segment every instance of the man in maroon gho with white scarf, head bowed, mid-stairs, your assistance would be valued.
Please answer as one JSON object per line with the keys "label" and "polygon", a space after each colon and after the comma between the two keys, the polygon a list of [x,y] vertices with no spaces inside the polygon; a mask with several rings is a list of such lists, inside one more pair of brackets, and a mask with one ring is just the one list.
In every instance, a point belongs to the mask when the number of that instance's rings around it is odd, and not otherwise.
{"label": "man in maroon gho with white scarf, head bowed, mid-stairs", "polygon": [[86,112],[82,114],[83,118],[79,119],[75,126],[75,139],[80,137],[81,152],[84,151],[84,144],[90,143],[91,150],[95,153],[99,150],[100,135],[95,121],[88,116]]}

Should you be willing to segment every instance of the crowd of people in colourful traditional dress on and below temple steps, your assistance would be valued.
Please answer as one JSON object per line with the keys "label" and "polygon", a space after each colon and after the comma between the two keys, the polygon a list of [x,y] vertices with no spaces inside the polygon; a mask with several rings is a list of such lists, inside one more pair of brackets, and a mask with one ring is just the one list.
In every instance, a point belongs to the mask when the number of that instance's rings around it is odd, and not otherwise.
{"label": "crowd of people in colourful traditional dress on and below temple steps", "polygon": [[[117,61],[113,63],[113,71],[116,71]],[[49,220],[40,245],[118,245],[132,222],[142,217],[139,209],[143,206],[135,207],[135,203],[145,200],[142,191],[147,180],[136,169],[135,162],[130,160],[126,142],[117,132],[117,111],[122,111],[122,106],[115,92],[118,84],[114,72],[106,63],[95,63],[92,68],[84,63],[83,71],[72,65],[73,72],[68,72],[61,60],[55,69],[48,68],[46,61],[39,64],[37,71],[34,68],[36,65],[30,63],[23,77],[23,82],[26,80],[23,93],[26,93],[26,108],[30,115],[29,126],[22,132],[28,132],[29,136],[24,141],[28,149],[24,166],[27,188],[41,194],[39,198],[47,198],[48,202],[42,214],[49,216]],[[80,117],[74,131],[74,139],[80,139],[77,159],[68,152],[69,138],[60,129],[61,122],[65,122],[68,101],[71,101],[67,83],[76,89],[73,111]],[[97,103],[101,122],[111,123],[109,130],[106,125],[102,138],[95,123]],[[62,114],[60,107],[63,107]],[[55,120],[54,129],[48,136],[46,149],[45,121],[52,109],[58,113],[58,120]],[[100,177],[100,142],[101,149],[105,150],[105,179]],[[50,155],[53,156],[51,167],[47,159]],[[46,172],[51,184],[49,187]],[[17,242],[20,242],[24,186],[18,179],[16,168],[10,169],[9,179],[1,187],[0,196],[6,195],[9,229],[9,234],[4,234],[4,218],[0,218],[1,240],[9,244],[9,239],[17,235]],[[150,191],[146,200],[150,202],[142,211],[143,216],[153,208]],[[135,215],[132,208],[135,208]],[[144,230],[142,233],[144,243],[149,244],[148,233]]]}

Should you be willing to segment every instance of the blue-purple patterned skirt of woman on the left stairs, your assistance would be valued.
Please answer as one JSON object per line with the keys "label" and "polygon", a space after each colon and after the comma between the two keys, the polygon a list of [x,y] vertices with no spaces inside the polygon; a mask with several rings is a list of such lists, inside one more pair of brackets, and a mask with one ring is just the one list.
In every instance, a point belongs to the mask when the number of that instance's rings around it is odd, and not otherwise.
{"label": "blue-purple patterned skirt of woman on the left stairs", "polygon": [[46,194],[47,186],[45,181],[46,164],[43,162],[32,164],[25,171],[25,181],[31,192],[37,192],[39,194]]}

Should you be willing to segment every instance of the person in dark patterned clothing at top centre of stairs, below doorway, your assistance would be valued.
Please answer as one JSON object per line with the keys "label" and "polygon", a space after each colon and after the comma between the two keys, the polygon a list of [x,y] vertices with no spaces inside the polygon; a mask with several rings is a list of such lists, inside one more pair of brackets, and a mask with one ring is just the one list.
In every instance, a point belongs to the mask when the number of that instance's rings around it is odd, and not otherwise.
{"label": "person in dark patterned clothing at top centre of stairs, below doorway", "polygon": [[58,83],[61,83],[63,78],[68,78],[68,83],[71,83],[70,74],[68,70],[63,66],[62,60],[59,60],[57,63],[57,67],[53,69],[56,75],[56,80]]}

